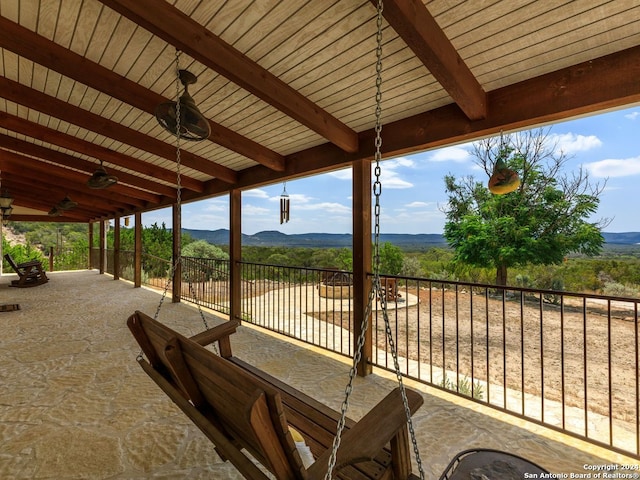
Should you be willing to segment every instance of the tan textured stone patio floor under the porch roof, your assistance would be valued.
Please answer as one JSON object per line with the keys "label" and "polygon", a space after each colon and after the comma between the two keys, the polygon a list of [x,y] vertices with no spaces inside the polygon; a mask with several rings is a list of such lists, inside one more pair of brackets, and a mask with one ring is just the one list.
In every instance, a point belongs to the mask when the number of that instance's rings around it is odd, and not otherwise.
{"label": "tan textured stone patio floor under the porch roof", "polygon": [[[150,315],[160,296],[96,271],[54,272],[34,288],[0,278],[1,479],[238,479],[140,369],[125,321]],[[167,300],[159,319],[185,335],[202,331],[198,311]],[[207,313],[209,324],[224,321]],[[349,359],[243,325],[234,354],[339,409]],[[381,370],[357,378],[349,416],[360,418],[395,385]],[[427,479],[459,451],[496,448],[556,474],[589,465],[638,465],[632,458],[406,381],[424,395],[414,416]],[[594,477],[595,478],[595,477]]]}

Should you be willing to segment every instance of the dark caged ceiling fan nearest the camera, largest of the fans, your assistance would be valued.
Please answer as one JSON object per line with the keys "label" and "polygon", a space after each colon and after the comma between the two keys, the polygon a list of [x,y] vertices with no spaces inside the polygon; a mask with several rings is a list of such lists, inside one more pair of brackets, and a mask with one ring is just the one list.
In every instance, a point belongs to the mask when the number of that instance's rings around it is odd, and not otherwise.
{"label": "dark caged ceiling fan nearest the camera, largest of the fans", "polygon": [[[184,85],[184,93],[180,96],[180,138],[200,141],[209,137],[211,127],[208,120],[200,113],[196,103],[189,95],[188,86],[196,83],[198,77],[188,70],[180,70],[178,78]],[[156,107],[156,118],[162,127],[172,134],[176,134],[177,102],[165,102]]]}

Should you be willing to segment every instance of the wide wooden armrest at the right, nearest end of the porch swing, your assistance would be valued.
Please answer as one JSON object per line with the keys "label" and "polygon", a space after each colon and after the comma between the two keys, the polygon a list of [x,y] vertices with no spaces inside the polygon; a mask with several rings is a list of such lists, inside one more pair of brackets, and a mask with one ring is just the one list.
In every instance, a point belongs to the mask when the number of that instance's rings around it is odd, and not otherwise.
{"label": "wide wooden armrest at the right, nearest end of the porch swing", "polygon": [[[422,395],[413,390],[406,389],[406,393],[409,411],[413,415],[424,403],[424,399]],[[410,469],[407,416],[399,387],[382,399],[352,428],[345,430],[340,442],[335,470],[337,471],[347,465],[372,460],[389,442],[391,442],[392,461],[404,462],[404,468],[409,466]],[[316,459],[313,465],[309,467],[309,479],[324,478],[330,455],[331,449],[327,449]],[[396,468],[402,471],[403,466],[396,465]]]}

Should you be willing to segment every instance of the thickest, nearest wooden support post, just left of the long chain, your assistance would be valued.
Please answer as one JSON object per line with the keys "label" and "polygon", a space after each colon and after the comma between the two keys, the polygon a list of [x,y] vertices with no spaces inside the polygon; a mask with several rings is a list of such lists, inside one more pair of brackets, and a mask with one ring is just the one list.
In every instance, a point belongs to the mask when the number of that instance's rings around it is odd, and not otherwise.
{"label": "thickest, nearest wooden support post, just left of the long chain", "polygon": [[[371,291],[371,162],[353,162],[353,344],[362,331],[362,321]],[[362,347],[362,358],[358,363],[358,375],[364,377],[372,372],[372,327],[369,328]]]}

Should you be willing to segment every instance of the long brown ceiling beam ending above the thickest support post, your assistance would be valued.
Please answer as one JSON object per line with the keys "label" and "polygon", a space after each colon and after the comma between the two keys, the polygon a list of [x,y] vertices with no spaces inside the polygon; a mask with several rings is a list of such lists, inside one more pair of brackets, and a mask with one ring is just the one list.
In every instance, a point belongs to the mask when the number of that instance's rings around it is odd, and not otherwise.
{"label": "long brown ceiling beam ending above the thickest support post", "polygon": [[357,133],[168,2],[100,0],[347,152]]}

